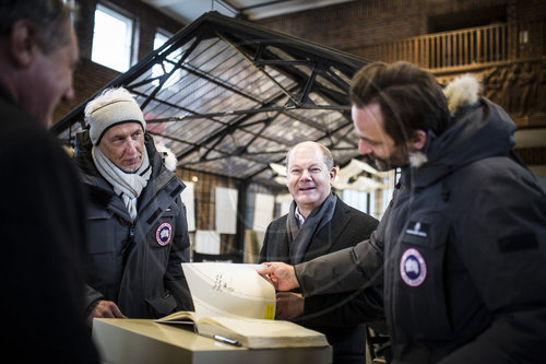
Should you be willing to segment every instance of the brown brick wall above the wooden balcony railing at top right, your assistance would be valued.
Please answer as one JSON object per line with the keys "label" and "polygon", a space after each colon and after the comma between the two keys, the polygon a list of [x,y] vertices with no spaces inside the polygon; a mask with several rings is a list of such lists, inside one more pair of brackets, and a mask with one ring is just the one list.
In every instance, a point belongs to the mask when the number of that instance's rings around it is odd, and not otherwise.
{"label": "brown brick wall above the wooden balcony railing at top right", "polygon": [[264,19],[258,23],[358,55],[358,49],[364,46],[430,33],[430,19],[444,16],[451,20],[452,14],[487,19],[491,9],[506,9],[509,22],[546,17],[546,2],[543,0],[358,0]]}

